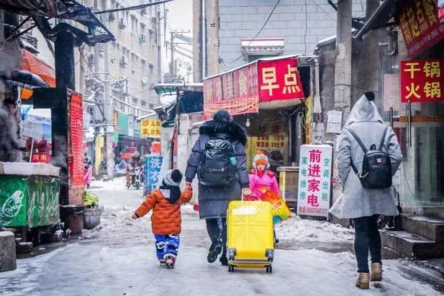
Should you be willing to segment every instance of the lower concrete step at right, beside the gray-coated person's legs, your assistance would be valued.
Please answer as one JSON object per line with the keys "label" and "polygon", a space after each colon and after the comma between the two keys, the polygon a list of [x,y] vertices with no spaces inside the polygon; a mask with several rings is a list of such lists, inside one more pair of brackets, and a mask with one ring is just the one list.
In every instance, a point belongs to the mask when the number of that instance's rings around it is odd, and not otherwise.
{"label": "lower concrete step at right, beside the gray-coated person's legs", "polygon": [[444,244],[406,231],[380,230],[382,245],[407,257],[429,259],[444,256]]}

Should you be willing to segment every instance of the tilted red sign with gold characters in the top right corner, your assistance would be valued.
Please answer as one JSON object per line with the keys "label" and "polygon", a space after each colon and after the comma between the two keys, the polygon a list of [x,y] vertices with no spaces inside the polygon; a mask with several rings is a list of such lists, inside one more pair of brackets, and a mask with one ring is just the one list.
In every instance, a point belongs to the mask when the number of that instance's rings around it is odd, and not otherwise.
{"label": "tilted red sign with gold characters in the top right corner", "polygon": [[406,2],[400,11],[400,27],[407,51],[414,58],[444,38],[444,23],[438,18],[436,0]]}

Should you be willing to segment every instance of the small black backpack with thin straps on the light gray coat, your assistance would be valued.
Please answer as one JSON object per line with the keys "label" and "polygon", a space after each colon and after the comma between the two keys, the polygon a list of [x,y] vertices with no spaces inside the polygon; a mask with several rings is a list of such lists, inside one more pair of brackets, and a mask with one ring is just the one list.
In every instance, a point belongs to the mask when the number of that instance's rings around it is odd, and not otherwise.
{"label": "small black backpack with thin straps on the light gray coat", "polygon": [[362,143],[361,139],[359,139],[357,134],[353,132],[352,129],[345,128],[345,130],[348,130],[350,134],[352,134],[352,136],[359,143],[359,146],[361,146],[362,150],[364,150],[361,173],[359,173],[357,167],[355,164],[353,164],[353,160],[350,157],[350,163],[353,171],[355,171],[359,181],[361,181],[362,186],[368,189],[384,189],[391,187],[392,175],[390,157],[388,157],[387,153],[382,151],[388,128],[385,128],[384,133],[382,134],[381,143],[379,143],[379,148],[377,150],[375,144],[370,146],[370,150],[367,150],[364,143]]}

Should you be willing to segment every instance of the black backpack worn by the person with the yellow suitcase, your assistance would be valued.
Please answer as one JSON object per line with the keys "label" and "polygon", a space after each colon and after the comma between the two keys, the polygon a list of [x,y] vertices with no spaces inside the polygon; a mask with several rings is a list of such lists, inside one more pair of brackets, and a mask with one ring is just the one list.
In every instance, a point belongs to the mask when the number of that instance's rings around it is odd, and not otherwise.
{"label": "black backpack worn by the person with the yellow suitcase", "polygon": [[198,164],[198,179],[204,186],[230,186],[236,177],[237,166],[230,159],[236,153],[230,141],[224,137],[214,137],[205,143],[202,159]]}

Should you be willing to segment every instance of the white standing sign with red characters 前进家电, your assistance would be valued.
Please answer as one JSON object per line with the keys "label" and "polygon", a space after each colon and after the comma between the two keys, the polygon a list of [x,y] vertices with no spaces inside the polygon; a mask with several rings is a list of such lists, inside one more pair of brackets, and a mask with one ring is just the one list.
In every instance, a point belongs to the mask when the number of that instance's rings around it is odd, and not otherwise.
{"label": "white standing sign with red characters \u524d\u8fdb\u5bb6\u7535", "polygon": [[298,215],[328,216],[332,152],[328,145],[300,146]]}

